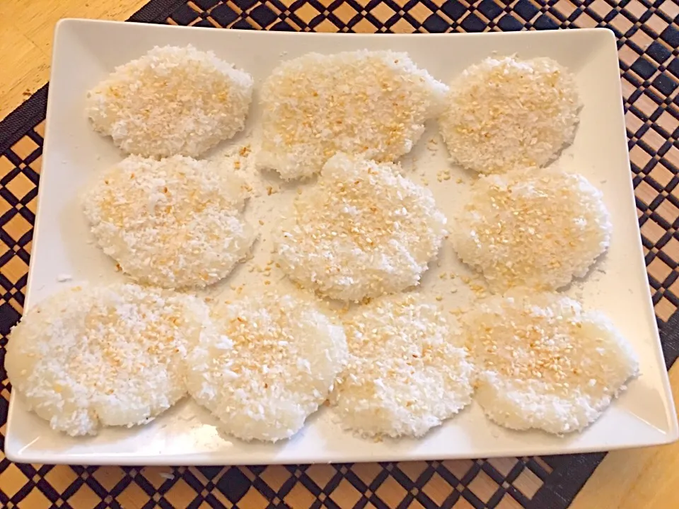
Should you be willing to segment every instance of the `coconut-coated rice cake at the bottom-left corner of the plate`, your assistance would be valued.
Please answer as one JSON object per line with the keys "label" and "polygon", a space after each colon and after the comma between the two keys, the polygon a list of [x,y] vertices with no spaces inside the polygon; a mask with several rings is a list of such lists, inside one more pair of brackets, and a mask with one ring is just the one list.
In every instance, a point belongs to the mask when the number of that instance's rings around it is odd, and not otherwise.
{"label": "coconut-coated rice cake at the bottom-left corner of the plate", "polygon": [[190,296],[134,284],[74,286],[30,308],[5,366],[30,409],[69,435],[134,426],[186,392],[180,359],[207,320]]}

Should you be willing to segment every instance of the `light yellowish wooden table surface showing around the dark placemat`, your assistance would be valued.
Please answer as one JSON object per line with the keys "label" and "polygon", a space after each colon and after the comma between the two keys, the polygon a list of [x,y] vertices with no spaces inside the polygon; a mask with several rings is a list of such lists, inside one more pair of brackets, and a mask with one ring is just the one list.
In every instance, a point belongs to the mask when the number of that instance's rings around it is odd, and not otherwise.
{"label": "light yellowish wooden table surface showing around the dark placemat", "polygon": [[[145,0],[0,0],[0,119],[49,78],[60,18],[124,20]],[[679,364],[670,371],[679,407]],[[611,452],[571,509],[679,508],[679,443]],[[1,489],[1,486],[0,486]]]}

